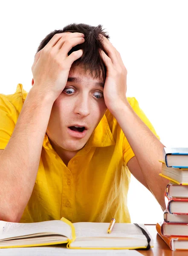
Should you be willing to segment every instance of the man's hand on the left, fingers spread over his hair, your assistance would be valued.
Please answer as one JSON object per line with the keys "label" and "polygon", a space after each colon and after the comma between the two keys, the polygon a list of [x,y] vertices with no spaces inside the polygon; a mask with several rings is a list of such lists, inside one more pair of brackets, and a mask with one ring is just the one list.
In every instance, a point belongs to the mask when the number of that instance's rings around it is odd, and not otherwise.
{"label": "man's hand on the left, fingers spread over his hair", "polygon": [[69,70],[72,63],[80,58],[83,50],[68,52],[77,44],[84,43],[82,33],[59,33],[35,55],[32,65],[34,79],[33,87],[37,87],[39,93],[49,95],[53,102],[58,98],[67,84]]}

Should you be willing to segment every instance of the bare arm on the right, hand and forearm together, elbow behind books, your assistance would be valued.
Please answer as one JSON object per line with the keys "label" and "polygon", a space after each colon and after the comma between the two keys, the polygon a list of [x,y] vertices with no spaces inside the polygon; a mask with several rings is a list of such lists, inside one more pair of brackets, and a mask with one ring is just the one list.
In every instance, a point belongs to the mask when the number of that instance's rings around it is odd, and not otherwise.
{"label": "bare arm on the right, hand and forearm together, elbow behind books", "polygon": [[[133,149],[137,160],[132,165],[134,176],[142,184],[149,187],[160,205],[165,207],[164,191],[167,182],[159,176],[161,170],[159,159],[162,159],[164,145],[136,115],[127,101],[127,70],[120,53],[104,36],[102,37],[102,44],[106,52],[100,51],[100,54],[107,68],[104,84],[105,104],[119,122],[130,147]],[[139,170],[136,170],[138,168]],[[143,181],[143,177],[146,182]]]}

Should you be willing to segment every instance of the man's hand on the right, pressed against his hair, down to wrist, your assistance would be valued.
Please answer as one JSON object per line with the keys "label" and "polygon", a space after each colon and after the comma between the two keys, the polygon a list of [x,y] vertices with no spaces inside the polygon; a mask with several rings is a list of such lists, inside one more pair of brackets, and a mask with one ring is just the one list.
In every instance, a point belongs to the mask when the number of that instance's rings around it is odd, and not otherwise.
{"label": "man's hand on the right, pressed against his hair, down to wrist", "polygon": [[100,55],[107,68],[107,75],[104,84],[104,101],[112,113],[115,113],[121,106],[127,104],[127,70],[123,64],[120,53],[101,35],[102,44],[107,54],[100,50]]}

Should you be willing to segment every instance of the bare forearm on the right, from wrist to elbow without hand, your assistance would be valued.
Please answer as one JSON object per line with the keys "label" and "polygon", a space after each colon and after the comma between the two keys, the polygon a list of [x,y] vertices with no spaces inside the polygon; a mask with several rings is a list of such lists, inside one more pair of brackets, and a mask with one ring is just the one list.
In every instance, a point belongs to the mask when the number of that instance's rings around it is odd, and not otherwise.
{"label": "bare forearm on the right, from wrist to elbow without hand", "polygon": [[162,160],[164,145],[137,116],[128,102],[115,113],[114,116],[133,149],[150,191],[164,209],[164,191],[168,180],[159,176],[162,167],[159,160]]}

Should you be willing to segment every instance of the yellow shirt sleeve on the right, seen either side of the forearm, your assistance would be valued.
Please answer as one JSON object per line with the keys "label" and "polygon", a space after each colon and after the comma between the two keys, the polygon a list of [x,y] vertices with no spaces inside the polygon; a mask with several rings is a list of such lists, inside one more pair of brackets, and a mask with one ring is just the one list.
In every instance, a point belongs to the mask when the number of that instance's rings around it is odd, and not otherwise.
{"label": "yellow shirt sleeve on the right, seen either side of the forearm", "polygon": [[[133,108],[135,113],[139,116],[139,118],[142,119],[142,121],[145,123],[145,125],[147,125],[148,128],[153,132],[153,134],[160,140],[160,137],[156,134],[156,131],[153,128],[153,125],[151,124],[151,122],[149,121],[149,119],[147,118],[145,113],[142,111],[142,109],[139,107],[138,101],[135,98],[127,98],[127,99],[129,100],[131,107]],[[128,143],[127,138],[124,136],[123,158],[124,158],[124,162],[125,162],[126,166],[127,166],[128,161],[134,156],[135,156],[135,154],[134,154],[132,148],[130,147],[130,144]]]}

